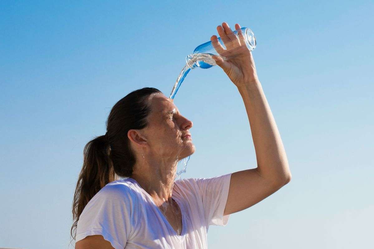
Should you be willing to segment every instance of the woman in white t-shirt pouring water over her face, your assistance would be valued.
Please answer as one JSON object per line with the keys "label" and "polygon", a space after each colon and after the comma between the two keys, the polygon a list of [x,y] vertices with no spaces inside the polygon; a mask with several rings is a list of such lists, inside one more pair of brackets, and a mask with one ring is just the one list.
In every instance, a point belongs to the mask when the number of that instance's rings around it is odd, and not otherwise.
{"label": "woman in white t-shirt pouring water over her face", "polygon": [[213,59],[243,98],[257,168],[175,181],[177,162],[195,151],[193,124],[156,88],[133,91],[113,106],[107,133],[85,146],[73,202],[76,249],[207,248],[209,225],[225,226],[291,180],[251,51],[226,22],[217,31],[226,49],[215,35],[212,44],[229,60]]}

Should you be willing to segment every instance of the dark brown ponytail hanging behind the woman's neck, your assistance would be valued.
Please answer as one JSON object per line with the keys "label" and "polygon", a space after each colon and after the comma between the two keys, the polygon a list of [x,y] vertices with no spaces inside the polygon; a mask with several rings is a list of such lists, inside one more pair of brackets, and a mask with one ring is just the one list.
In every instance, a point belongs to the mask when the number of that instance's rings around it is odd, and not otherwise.
{"label": "dark brown ponytail hanging behind the woman's neck", "polygon": [[110,159],[110,146],[106,136],[99,136],[89,141],[83,150],[83,167],[79,173],[73,200],[73,220],[71,236],[76,231],[80,214],[92,197],[102,187],[115,181],[116,173]]}

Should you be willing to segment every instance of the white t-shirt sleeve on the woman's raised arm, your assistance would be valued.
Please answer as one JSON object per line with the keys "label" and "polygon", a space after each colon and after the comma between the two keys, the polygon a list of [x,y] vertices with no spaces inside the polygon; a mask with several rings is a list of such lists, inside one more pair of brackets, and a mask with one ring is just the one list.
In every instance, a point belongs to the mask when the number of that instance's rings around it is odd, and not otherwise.
{"label": "white t-shirt sleeve on the woman's raised arm", "polygon": [[230,215],[223,215],[226,207],[231,174],[212,178],[196,178],[201,193],[207,226],[225,226]]}

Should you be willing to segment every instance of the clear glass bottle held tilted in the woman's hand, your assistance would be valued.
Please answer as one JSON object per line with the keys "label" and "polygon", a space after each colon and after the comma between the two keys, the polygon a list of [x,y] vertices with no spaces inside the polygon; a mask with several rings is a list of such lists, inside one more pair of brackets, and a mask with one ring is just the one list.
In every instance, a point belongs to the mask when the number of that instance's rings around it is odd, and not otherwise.
{"label": "clear glass bottle held tilted in the woman's hand", "polygon": [[[245,38],[245,44],[249,50],[254,50],[256,47],[256,37],[253,34],[250,28],[243,27],[240,29],[242,34]],[[234,34],[237,35],[239,29],[234,31]],[[218,41],[221,43],[222,47],[226,49],[221,37],[218,37]],[[218,55],[217,51],[212,45],[212,41],[208,41],[196,47],[191,55],[186,57],[186,62],[189,68],[211,68],[212,66],[217,65],[212,59],[212,55]],[[220,55],[218,55],[220,56]],[[221,56],[223,59],[227,59],[226,57]]]}

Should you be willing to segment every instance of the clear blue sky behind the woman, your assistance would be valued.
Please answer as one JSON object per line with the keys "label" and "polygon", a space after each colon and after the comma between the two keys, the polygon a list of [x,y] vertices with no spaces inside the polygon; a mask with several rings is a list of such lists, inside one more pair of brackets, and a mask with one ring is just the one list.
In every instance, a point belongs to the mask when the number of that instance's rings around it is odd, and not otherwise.
{"label": "clear blue sky behind the woman", "polygon": [[[292,180],[209,228],[209,248],[369,248],[373,1],[1,1],[0,247],[67,249],[83,147],[130,91],[165,95],[194,48],[250,27]],[[255,168],[248,117],[218,66],[176,97],[193,121],[184,178]],[[248,190],[250,193],[251,190]]]}

